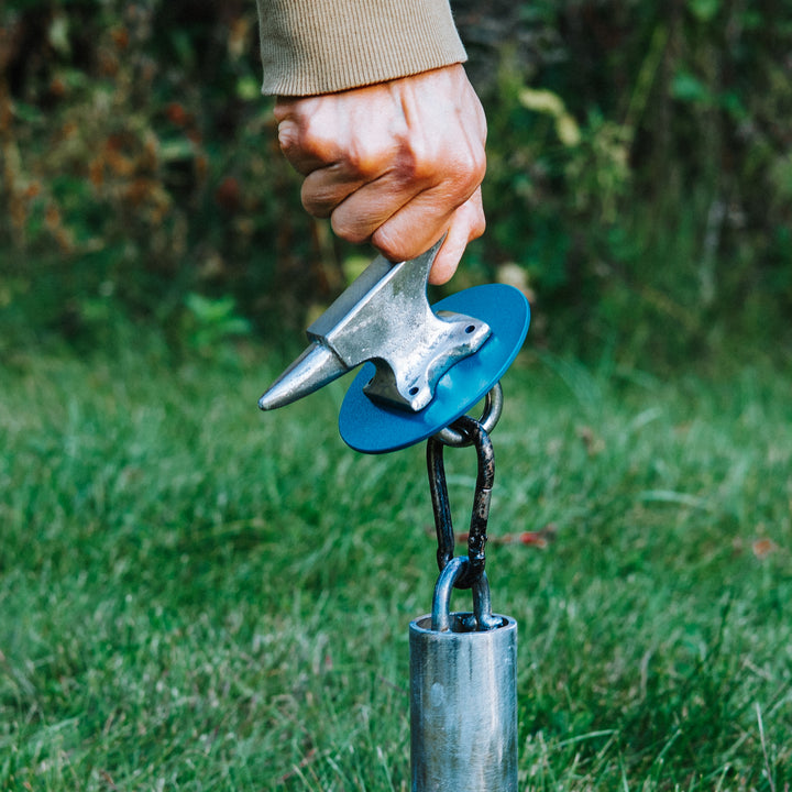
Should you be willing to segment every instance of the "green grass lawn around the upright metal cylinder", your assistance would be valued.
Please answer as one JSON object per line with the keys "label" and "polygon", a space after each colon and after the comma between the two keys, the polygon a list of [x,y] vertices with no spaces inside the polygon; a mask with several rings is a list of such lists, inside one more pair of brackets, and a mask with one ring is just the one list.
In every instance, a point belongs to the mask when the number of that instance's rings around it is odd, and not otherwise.
{"label": "green grass lawn around the upright metal cylinder", "polygon": [[[285,362],[136,339],[0,370],[0,789],[408,789],[424,449],[349,450],[341,384],[260,415]],[[520,625],[521,790],[792,783],[791,384],[507,375],[487,569]]]}

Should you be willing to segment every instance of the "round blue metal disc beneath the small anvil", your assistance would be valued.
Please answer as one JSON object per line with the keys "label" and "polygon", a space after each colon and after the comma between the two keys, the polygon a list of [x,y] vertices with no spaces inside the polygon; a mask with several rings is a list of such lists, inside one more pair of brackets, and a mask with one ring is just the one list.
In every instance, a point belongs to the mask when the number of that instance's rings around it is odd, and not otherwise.
{"label": "round blue metal disc beneath the small anvil", "polygon": [[363,453],[385,453],[414,446],[464,415],[501,380],[522,346],[530,307],[521,292],[486,284],[458,292],[432,306],[485,321],[492,334],[481,349],[455,363],[441,377],[435,398],[418,413],[372,402],[363,387],[374,376],[365,363],[350,385],[339,415],[344,442]]}

